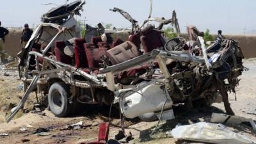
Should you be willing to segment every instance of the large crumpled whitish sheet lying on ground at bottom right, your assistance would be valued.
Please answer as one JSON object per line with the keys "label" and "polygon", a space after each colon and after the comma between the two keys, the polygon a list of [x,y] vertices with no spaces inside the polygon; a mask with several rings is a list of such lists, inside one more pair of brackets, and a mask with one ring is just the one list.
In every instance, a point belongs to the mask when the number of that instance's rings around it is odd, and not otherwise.
{"label": "large crumpled whitish sheet lying on ground at bottom right", "polygon": [[196,124],[175,127],[175,129],[172,129],[171,134],[173,138],[205,143],[256,143],[242,134],[231,131],[223,124],[212,124],[207,122],[198,122]]}

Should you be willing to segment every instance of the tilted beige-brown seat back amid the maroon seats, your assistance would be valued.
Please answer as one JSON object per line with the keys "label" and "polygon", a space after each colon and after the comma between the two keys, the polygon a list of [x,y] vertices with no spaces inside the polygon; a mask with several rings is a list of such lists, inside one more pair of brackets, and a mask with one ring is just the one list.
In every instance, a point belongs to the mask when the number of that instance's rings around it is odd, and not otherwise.
{"label": "tilted beige-brown seat back amid the maroon seats", "polygon": [[132,58],[140,56],[140,54],[141,52],[138,50],[136,45],[129,41],[108,50],[108,57],[112,65],[131,60]]}

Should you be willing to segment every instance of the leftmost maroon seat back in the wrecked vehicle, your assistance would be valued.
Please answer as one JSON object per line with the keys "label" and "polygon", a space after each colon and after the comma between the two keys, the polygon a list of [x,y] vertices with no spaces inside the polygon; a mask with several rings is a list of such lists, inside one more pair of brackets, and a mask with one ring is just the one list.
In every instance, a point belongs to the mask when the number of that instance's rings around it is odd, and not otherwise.
{"label": "leftmost maroon seat back in the wrecked vehicle", "polygon": [[65,42],[63,41],[55,42],[54,52],[55,52],[56,60],[62,63],[66,63],[68,65],[72,65],[72,58],[70,56],[67,56],[63,52],[65,46],[66,46]]}

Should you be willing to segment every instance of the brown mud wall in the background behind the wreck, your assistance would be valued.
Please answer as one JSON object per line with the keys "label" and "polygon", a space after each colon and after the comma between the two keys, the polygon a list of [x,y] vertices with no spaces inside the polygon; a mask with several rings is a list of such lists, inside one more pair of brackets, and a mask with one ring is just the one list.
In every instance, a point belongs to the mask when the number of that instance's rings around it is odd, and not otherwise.
{"label": "brown mud wall in the background behind the wreck", "polygon": [[[10,34],[6,36],[5,49],[12,56],[16,56],[21,49],[19,46],[21,33],[22,30],[10,30]],[[128,35],[125,33],[118,34],[118,36],[113,35],[113,37],[120,37],[125,40]],[[239,41],[245,58],[256,58],[256,35],[225,35],[225,37]]]}

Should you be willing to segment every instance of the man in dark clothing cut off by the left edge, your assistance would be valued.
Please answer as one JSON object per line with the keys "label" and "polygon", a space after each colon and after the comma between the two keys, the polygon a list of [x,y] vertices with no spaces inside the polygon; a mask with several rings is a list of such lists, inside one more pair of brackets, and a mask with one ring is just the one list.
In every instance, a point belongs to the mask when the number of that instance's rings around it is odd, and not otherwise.
{"label": "man in dark clothing cut off by the left edge", "polygon": [[4,54],[4,37],[8,35],[9,31],[6,28],[1,27],[0,21],[0,57],[1,63],[5,61],[5,54]]}

